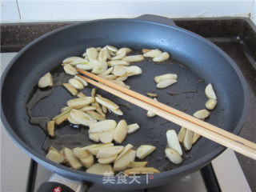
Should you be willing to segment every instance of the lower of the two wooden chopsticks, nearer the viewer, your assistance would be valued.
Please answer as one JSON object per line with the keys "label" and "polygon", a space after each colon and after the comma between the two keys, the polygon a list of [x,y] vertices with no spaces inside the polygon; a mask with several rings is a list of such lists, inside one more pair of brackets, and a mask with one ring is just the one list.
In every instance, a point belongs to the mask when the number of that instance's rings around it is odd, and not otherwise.
{"label": "lower of the two wooden chopsticks, nearer the viewer", "polygon": [[[88,73],[88,72],[86,72],[86,73]],[[226,146],[232,150],[237,151],[240,154],[244,154],[247,157],[253,158],[254,160],[256,160],[256,150],[250,148],[249,146],[245,146],[244,144],[242,144],[240,142],[236,142],[230,138],[227,138],[227,137],[223,136],[222,134],[218,134],[211,130],[207,130],[205,127],[198,126],[194,122],[190,122],[190,121],[180,118],[174,114],[170,114],[166,110],[162,110],[156,106],[152,106],[149,103],[147,103],[145,101],[141,101],[138,98],[134,98],[128,94],[123,93],[122,91],[116,90],[116,89],[106,86],[106,85],[102,85],[99,82],[94,82],[93,80],[91,80],[89,78],[85,78],[82,75],[78,75],[78,76],[83,78],[86,82],[89,82],[90,84],[92,84],[94,86],[98,86],[102,90],[106,90],[106,91],[110,92],[111,94],[114,94],[120,98],[125,99],[128,102],[134,103],[134,105],[141,106],[145,110],[150,110],[154,114],[158,114],[162,118],[166,118],[167,120],[169,120],[171,122],[174,122],[180,126],[184,126],[187,129],[192,130],[197,134],[200,134],[206,138],[209,138],[210,140],[212,140],[214,142],[218,142],[222,146]]]}

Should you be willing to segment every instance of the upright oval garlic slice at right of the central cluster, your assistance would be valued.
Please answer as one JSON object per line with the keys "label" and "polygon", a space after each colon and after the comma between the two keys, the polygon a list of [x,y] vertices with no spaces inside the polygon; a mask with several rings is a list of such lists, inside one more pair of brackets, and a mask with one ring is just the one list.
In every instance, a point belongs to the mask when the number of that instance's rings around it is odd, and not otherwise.
{"label": "upright oval garlic slice at right of the central cluster", "polygon": [[118,122],[118,125],[114,130],[114,141],[117,143],[122,143],[122,141],[126,138],[127,131],[128,126],[126,120],[122,119],[120,122]]}

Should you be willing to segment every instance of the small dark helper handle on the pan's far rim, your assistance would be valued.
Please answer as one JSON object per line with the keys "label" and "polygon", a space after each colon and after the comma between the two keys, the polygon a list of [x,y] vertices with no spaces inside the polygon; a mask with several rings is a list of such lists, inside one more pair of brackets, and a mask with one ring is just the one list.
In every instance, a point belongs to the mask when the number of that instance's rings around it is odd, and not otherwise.
{"label": "small dark helper handle on the pan's far rim", "polygon": [[146,22],[158,22],[167,26],[176,26],[173,19],[162,17],[159,15],[154,15],[154,14],[142,14],[141,16],[135,19],[146,21]]}

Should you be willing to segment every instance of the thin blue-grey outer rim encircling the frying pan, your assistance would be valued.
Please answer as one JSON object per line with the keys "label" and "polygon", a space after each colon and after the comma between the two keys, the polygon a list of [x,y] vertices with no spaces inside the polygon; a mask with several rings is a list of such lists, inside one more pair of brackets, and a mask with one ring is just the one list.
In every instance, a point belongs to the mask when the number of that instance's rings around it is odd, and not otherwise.
{"label": "thin blue-grey outer rim encircling the frying pan", "polygon": [[[56,34],[59,31],[67,30],[67,29],[72,28],[74,26],[85,25],[86,23],[92,23],[92,22],[106,22],[106,21],[107,22],[130,21],[130,22],[140,22],[140,23],[145,22],[145,23],[150,23],[150,24],[154,24],[154,25],[158,25],[158,26],[166,26],[168,28],[173,28],[174,30],[179,30],[182,33],[186,33],[186,34],[190,35],[193,38],[197,38],[198,40],[206,43],[207,46],[210,46],[215,51],[217,51],[218,54],[221,54],[222,57],[225,58],[227,60],[227,62],[229,62],[230,65],[233,67],[233,69],[235,70],[236,74],[238,75],[238,78],[239,78],[239,80],[241,82],[241,85],[242,85],[243,94],[244,94],[244,105],[243,105],[243,108],[242,108],[241,118],[239,119],[239,122],[238,122],[237,126],[233,130],[233,133],[238,134],[240,132],[240,130],[242,130],[242,125],[245,121],[246,114],[248,112],[248,102],[249,102],[248,88],[247,88],[247,85],[246,85],[246,80],[242,75],[242,72],[238,69],[238,66],[235,64],[233,59],[230,58],[230,56],[228,56],[223,50],[221,50],[218,46],[214,45],[212,42],[210,42],[206,38],[202,38],[200,35],[194,34],[193,32],[191,32],[189,30],[182,29],[178,26],[168,26],[166,24],[161,24],[161,23],[158,23],[158,22],[143,21],[143,20],[136,19],[136,18],[135,19],[134,18],[107,18],[107,19],[92,20],[92,21],[88,21],[88,22],[79,22],[79,23],[75,23],[75,24],[72,24],[72,25],[69,25],[69,26],[64,26],[64,27],[59,28],[57,30],[51,31],[47,34],[43,34],[41,37],[35,39],[33,42],[30,42],[28,45],[26,45],[24,48],[22,48],[22,50],[20,50],[18,52],[18,54],[16,54],[15,57],[11,60],[9,65],[6,66],[6,69],[2,73],[2,77],[1,77],[1,90],[2,90],[2,87],[4,85],[4,80],[6,79],[6,75],[8,74],[11,66],[14,65],[14,62],[16,62],[16,60],[24,52],[26,52],[26,50],[28,50],[30,48],[30,46],[33,46],[37,42],[41,41],[44,38],[47,38],[48,36],[50,36],[52,34]],[[2,106],[2,94],[1,94],[1,106]],[[47,166],[46,167],[47,169],[50,169],[51,171],[54,171],[54,172],[58,172],[59,174],[63,174],[63,175],[71,174],[71,176],[70,176],[71,178],[76,178],[78,180],[86,180],[86,181],[96,182],[96,183],[98,183],[98,181],[96,181],[95,178],[102,180],[101,175],[88,174],[86,172],[72,170],[69,167],[58,165],[54,162],[51,162],[50,160],[48,160],[47,158],[45,158],[41,154],[38,154],[35,150],[31,149],[25,142],[22,141],[21,138],[19,138],[19,136],[17,134],[15,134],[15,132],[14,132],[14,130],[12,130],[9,122],[7,122],[5,112],[3,111],[2,107],[1,107],[1,118],[2,118],[3,126],[5,126],[5,128],[7,130],[7,133],[14,140],[14,142],[20,148],[22,148],[22,150],[24,150],[24,152],[26,152],[26,154],[28,154],[31,158],[33,158],[36,162],[38,162],[42,166],[45,166],[45,167]],[[202,158],[199,158],[198,160],[196,160],[194,162],[191,162],[191,163],[189,163],[185,166],[180,166],[178,168],[175,168],[174,170],[168,170],[168,171],[162,172],[160,174],[154,174],[154,178],[156,178],[156,180],[157,180],[157,178],[161,179],[161,178],[166,178],[168,176],[172,176],[174,174],[182,174],[182,172],[184,172],[184,170],[185,170],[184,173],[189,173],[193,170],[198,170],[198,166],[206,165],[206,163],[210,162],[210,160],[217,157],[218,154],[221,154],[222,151],[225,150],[225,148],[226,147],[224,147],[224,146],[218,146],[215,150],[211,151],[206,156],[204,156]],[[143,176],[141,178],[142,178],[142,182],[146,181],[146,176]],[[119,186],[122,186],[122,185],[119,185]]]}

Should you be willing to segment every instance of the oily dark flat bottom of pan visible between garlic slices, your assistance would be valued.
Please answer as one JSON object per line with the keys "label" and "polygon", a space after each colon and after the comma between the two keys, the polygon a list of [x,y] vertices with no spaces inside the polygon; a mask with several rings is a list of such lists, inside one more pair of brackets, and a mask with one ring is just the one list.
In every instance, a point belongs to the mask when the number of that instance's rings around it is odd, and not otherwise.
{"label": "oily dark flat bottom of pan visible between garlic slices", "polygon": [[[141,54],[141,52],[132,54]],[[178,108],[178,110],[186,111],[188,114],[193,114],[194,111],[204,106],[206,98],[203,93],[206,85],[201,81],[201,78],[184,64],[175,61],[173,58],[158,64],[152,62],[151,58],[146,58],[142,62],[134,62],[131,63],[131,65],[141,67],[143,73],[126,80],[126,84],[130,86],[130,89],[145,95],[146,93],[154,92],[154,94],[158,94],[158,101],[174,106]],[[27,102],[27,114],[30,116],[30,123],[42,127],[42,130],[45,130],[45,132],[46,122],[59,114],[62,107],[66,106],[68,100],[74,98],[61,86],[63,82],[67,82],[72,76],[65,74],[62,66],[58,66],[50,71],[50,73],[54,78],[54,86],[48,89],[38,89],[38,87],[35,86]],[[166,89],[158,90],[154,82],[154,77],[166,73],[178,74],[178,82]],[[86,95],[90,95],[92,88],[93,86],[86,86],[82,92]],[[190,90],[197,91],[191,92]],[[168,92],[183,93],[184,91],[189,93],[178,95],[167,94]],[[123,146],[130,143],[134,145],[134,149],[137,149],[138,146],[142,144],[154,145],[157,147],[157,150],[143,159],[143,161],[149,162],[148,166],[154,166],[161,171],[177,167],[167,160],[164,150],[167,145],[166,131],[174,129],[178,133],[180,129],[179,126],[172,122],[163,123],[166,120],[158,116],[147,118],[146,110],[142,110],[138,106],[127,103],[121,98],[117,98],[103,90],[97,89],[96,92],[102,94],[102,97],[110,98],[110,100],[120,104],[120,109],[124,113],[123,116],[108,113],[106,115],[107,119],[114,119],[117,122],[121,119],[126,119],[128,124],[139,124],[140,129],[134,134],[128,134],[125,141],[122,142]],[[56,126],[54,138],[46,137],[42,148],[47,151],[49,146],[54,146],[60,150],[62,146],[74,148],[94,144],[95,142],[90,141],[88,137],[87,129],[88,128],[85,126],[73,126],[70,125],[69,122],[64,122],[62,125]],[[184,154],[186,160],[183,163],[192,161],[190,152]]]}

